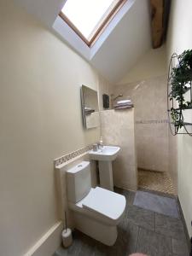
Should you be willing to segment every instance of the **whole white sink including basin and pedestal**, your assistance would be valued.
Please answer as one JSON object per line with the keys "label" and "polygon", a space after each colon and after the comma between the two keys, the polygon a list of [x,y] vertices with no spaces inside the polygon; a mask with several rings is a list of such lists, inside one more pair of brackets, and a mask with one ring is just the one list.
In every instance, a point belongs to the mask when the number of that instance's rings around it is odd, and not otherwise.
{"label": "whole white sink including basin and pedestal", "polygon": [[116,159],[120,148],[114,146],[103,146],[97,151],[90,150],[91,160],[99,161],[100,186],[113,191],[112,161]]}

